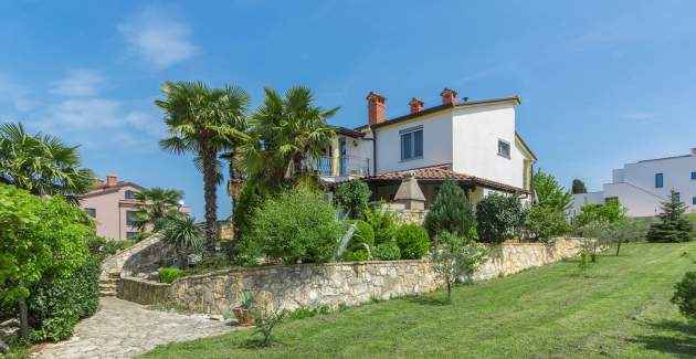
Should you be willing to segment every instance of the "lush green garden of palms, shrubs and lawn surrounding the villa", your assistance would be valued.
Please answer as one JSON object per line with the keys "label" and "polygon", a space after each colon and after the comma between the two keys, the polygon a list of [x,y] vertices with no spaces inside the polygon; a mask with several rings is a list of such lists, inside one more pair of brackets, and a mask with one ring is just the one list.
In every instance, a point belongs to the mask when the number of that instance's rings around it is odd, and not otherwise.
{"label": "lush green garden of palms, shrubs and lawn surrounding the villa", "polygon": [[[180,82],[165,83],[161,91],[164,99],[156,105],[169,137],[160,147],[193,155],[202,172],[205,215],[199,223],[180,213],[182,194],[176,190],[136,193],[140,204],[134,220],[143,233],[134,241],[158,235],[175,252],[172,265],[159,268],[160,282],[234,266],[426,258],[443,291],[333,313],[287,313],[245,292],[241,306],[231,309],[241,324],[255,324],[257,335],[172,345],[152,357],[205,357],[210,348],[218,350],[214,356],[242,357],[257,356],[255,350],[272,356],[326,356],[326,350],[335,356],[456,356],[463,350],[500,356],[502,348],[512,348],[506,351],[512,357],[529,350],[550,357],[611,350],[640,357],[693,349],[681,341],[692,338],[693,327],[675,310],[696,318],[696,272],[686,273],[669,293],[671,283],[694,264],[693,223],[676,196],[651,222],[628,218],[618,201],[586,205],[569,219],[571,193],[539,170],[529,203],[521,193],[493,193],[473,204],[460,183],[445,180],[424,222],[407,223],[384,203],[372,202],[360,180],[327,186],[307,165],[335,136],[327,119],[339,109],[316,106],[308,88],[283,95],[266,89],[253,112],[249,95],[235,86]],[[21,353],[31,342],[70,338],[77,321],[97,310],[101,261],[134,241],[97,237],[93,220],[78,209],[94,173],[81,166],[77,147],[4,124],[0,152],[0,319],[18,324],[10,347]],[[217,188],[225,162],[232,242],[218,237]],[[566,235],[581,237],[577,261],[471,281],[496,245],[551,246]],[[621,330],[626,335],[619,336]],[[661,344],[656,336],[665,331],[669,337]],[[335,345],[326,349],[326,344]],[[3,351],[10,349],[2,345]]]}

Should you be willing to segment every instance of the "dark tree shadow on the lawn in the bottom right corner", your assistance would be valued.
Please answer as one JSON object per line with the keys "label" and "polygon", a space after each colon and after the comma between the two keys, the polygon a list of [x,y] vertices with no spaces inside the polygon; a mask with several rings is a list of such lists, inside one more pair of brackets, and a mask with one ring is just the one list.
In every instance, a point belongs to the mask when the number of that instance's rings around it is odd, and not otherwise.
{"label": "dark tree shadow on the lawn in the bottom right corner", "polygon": [[657,335],[637,336],[628,341],[641,344],[645,349],[677,356],[696,356],[696,325],[678,320],[646,321],[643,324],[661,331]]}

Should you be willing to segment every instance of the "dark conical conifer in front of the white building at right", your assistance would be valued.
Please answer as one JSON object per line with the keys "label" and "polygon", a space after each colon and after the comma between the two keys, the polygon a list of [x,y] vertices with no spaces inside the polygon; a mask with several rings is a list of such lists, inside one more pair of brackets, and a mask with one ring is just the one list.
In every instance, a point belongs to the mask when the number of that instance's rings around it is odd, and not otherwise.
{"label": "dark conical conifer in front of the white building at right", "polygon": [[674,190],[669,199],[662,202],[660,222],[653,223],[647,231],[650,242],[688,242],[692,240],[692,223],[686,215],[686,204],[679,202]]}

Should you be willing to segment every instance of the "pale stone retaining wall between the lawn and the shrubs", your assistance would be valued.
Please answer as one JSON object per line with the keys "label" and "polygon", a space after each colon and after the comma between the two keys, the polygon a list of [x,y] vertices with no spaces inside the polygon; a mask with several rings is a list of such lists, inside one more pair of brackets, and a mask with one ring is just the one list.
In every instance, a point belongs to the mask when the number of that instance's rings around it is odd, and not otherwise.
{"label": "pale stone retaining wall between the lawn and the shrubs", "polygon": [[[581,250],[580,243],[568,239],[550,246],[539,243],[498,245],[492,249],[491,258],[473,278],[488,279],[576,256]],[[118,297],[143,304],[154,303],[148,300],[155,298],[164,300],[162,297],[166,297],[178,307],[192,312],[228,314],[240,304],[242,291],[251,291],[259,303],[292,310],[300,307],[357,305],[372,298],[421,294],[434,291],[441,284],[428,261],[239,267],[182,277],[171,286],[147,285],[147,282],[122,278]],[[140,293],[148,291],[154,293]]]}

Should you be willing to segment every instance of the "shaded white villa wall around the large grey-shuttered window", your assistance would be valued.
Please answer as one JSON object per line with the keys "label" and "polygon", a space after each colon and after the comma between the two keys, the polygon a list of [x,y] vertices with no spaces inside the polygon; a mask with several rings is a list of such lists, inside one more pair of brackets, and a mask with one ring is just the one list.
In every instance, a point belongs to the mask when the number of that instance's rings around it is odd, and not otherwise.
{"label": "shaded white villa wall around the large grey-shuttered window", "polygon": [[[401,160],[399,131],[423,125],[423,157]],[[452,163],[452,110],[376,129],[377,173]]]}

